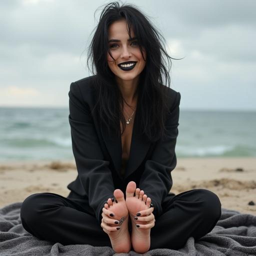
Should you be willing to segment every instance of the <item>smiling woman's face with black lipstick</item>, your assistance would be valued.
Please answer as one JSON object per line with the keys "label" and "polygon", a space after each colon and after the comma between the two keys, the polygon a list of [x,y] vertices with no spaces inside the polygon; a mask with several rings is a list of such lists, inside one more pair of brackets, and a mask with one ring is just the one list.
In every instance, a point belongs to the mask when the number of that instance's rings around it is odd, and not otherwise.
{"label": "smiling woman's face with black lipstick", "polygon": [[[133,80],[143,70],[145,61],[140,52],[137,40],[128,40],[129,34],[126,26],[125,20],[118,20],[108,27],[108,47],[115,61],[111,58],[109,53],[107,53],[107,64],[110,70],[119,79]],[[132,28],[130,32],[131,38],[134,38]],[[144,58],[146,58],[144,50],[143,55]],[[127,61],[130,61],[130,63],[120,65]]]}

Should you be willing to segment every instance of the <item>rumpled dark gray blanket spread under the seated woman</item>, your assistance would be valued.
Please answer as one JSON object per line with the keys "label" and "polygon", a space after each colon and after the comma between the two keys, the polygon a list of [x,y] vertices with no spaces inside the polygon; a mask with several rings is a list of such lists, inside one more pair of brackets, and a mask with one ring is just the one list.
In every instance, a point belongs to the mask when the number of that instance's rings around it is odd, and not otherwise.
{"label": "rumpled dark gray blanket spread under the seated woman", "polygon": [[[39,240],[22,227],[21,202],[0,209],[0,255],[117,255],[110,247],[86,244],[62,245]],[[171,230],[170,230],[171,231]],[[118,255],[141,255],[134,251]],[[178,250],[153,249],[143,255],[256,255],[256,216],[222,208],[213,230],[194,242],[189,237]]]}

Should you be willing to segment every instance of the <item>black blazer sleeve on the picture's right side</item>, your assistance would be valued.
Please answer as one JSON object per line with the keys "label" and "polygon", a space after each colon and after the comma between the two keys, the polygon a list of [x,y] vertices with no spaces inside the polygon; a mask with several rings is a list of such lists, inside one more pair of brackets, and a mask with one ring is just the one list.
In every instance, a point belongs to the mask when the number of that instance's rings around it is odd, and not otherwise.
{"label": "black blazer sleeve on the picture's right side", "polygon": [[172,186],[171,170],[176,166],[175,144],[178,135],[180,93],[171,106],[165,123],[166,136],[156,142],[150,160],[145,162],[145,168],[139,181],[139,188],[151,198],[155,217],[161,215],[161,202]]}

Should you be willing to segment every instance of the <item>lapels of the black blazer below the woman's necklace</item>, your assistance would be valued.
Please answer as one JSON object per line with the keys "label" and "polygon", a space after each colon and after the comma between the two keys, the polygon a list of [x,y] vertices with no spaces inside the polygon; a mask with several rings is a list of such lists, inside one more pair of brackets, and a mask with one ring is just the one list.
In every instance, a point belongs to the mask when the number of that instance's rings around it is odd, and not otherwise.
{"label": "lapels of the black blazer below the woman's necklace", "polygon": [[[128,175],[130,175],[133,171],[137,169],[137,167],[143,161],[150,145],[150,142],[145,139],[139,127],[140,115],[141,115],[141,112],[138,108],[135,112],[134,124],[132,128],[131,144],[130,144],[130,154],[129,154],[129,159],[127,161],[124,178],[126,178]],[[101,128],[101,132],[102,132],[107,150],[113,160],[115,170],[120,176],[121,154],[122,154],[121,137],[116,136],[113,132],[109,136],[107,134],[107,128]]]}

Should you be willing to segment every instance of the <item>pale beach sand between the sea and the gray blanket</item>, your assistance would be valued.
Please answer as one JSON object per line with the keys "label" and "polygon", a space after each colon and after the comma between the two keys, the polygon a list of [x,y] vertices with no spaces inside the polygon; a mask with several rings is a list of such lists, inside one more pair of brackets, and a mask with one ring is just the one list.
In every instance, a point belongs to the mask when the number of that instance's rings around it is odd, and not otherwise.
{"label": "pale beach sand between the sea and the gray blanket", "polygon": [[[0,162],[0,207],[37,192],[67,196],[76,175],[74,161]],[[171,175],[175,194],[206,188],[222,207],[256,215],[256,157],[178,158]]]}

